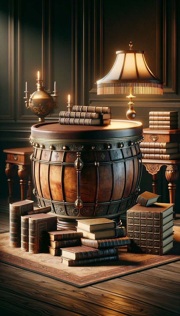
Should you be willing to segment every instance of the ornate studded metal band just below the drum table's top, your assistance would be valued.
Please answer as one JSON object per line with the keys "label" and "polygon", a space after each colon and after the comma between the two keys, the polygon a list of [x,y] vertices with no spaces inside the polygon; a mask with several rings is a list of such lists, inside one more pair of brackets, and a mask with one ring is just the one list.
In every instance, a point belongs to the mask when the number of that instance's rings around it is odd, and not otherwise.
{"label": "ornate studded metal band just below the drum table's top", "polygon": [[143,140],[142,134],[133,137],[122,137],[112,139],[97,139],[97,140],[55,140],[55,139],[42,139],[34,136],[30,137],[30,143],[35,148],[44,150],[57,150],[57,151],[102,151],[122,149],[132,146],[137,146]]}

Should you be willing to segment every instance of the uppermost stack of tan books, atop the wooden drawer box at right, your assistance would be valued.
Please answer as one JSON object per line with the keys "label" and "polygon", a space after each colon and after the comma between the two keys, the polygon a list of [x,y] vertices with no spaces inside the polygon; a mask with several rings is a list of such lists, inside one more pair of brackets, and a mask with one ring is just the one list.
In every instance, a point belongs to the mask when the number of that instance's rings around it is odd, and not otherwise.
{"label": "uppermost stack of tan books, atop the wooden drawer box at right", "polygon": [[176,111],[150,111],[149,112],[150,130],[177,130],[178,112]]}

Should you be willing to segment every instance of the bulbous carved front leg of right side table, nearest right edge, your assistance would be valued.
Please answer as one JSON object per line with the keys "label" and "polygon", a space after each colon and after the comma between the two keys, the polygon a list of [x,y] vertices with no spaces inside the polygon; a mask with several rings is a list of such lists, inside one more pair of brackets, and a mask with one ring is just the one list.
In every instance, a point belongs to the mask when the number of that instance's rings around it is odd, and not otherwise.
{"label": "bulbous carved front leg of right side table, nearest right edge", "polygon": [[165,171],[165,177],[168,184],[169,189],[169,197],[170,197],[170,203],[174,203],[175,201],[175,192],[176,192],[176,181],[179,176],[179,171],[177,170],[176,165],[168,165]]}

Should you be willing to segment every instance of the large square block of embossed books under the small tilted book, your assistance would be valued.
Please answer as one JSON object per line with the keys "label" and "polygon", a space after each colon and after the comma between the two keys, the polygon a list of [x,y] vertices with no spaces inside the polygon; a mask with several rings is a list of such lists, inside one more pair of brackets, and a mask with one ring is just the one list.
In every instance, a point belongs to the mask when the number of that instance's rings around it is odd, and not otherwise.
{"label": "large square block of embossed books under the small tilted book", "polygon": [[163,255],[173,248],[173,205],[136,204],[127,211],[129,252]]}

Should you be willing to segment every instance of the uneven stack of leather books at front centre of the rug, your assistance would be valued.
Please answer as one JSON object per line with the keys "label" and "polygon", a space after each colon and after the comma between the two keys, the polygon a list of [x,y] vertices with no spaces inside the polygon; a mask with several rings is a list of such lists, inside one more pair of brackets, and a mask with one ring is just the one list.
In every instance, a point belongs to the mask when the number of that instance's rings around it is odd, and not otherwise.
{"label": "uneven stack of leather books at front centre of the rug", "polygon": [[62,264],[80,266],[120,260],[122,246],[130,244],[124,227],[106,218],[77,220],[81,246],[62,248]]}

